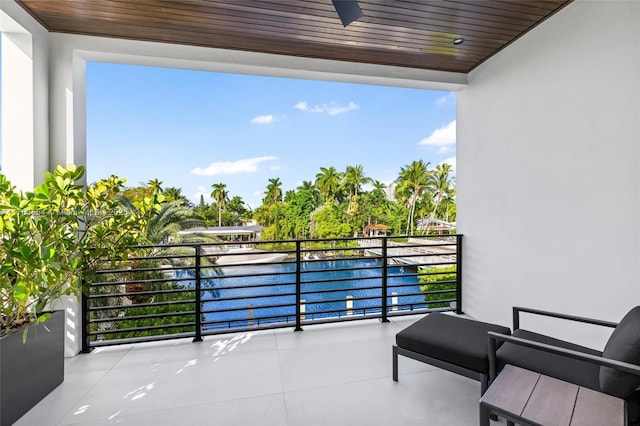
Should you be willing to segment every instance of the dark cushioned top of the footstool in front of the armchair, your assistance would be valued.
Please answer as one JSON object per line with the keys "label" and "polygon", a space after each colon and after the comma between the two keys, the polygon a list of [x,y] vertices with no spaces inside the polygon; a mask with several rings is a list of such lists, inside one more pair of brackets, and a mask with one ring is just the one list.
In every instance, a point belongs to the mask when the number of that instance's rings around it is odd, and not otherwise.
{"label": "dark cushioned top of the footstool in front of the armchair", "polygon": [[399,347],[488,373],[487,332],[511,334],[508,327],[434,312],[396,335]]}

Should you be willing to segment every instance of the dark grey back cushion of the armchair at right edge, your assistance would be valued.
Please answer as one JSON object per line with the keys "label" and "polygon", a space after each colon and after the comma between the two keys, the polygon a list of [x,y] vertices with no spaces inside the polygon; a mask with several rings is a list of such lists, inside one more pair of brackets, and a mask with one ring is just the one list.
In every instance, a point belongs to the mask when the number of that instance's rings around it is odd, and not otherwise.
{"label": "dark grey back cushion of the armchair at right edge", "polygon": [[[613,330],[602,355],[605,358],[640,364],[640,306],[630,310]],[[627,398],[640,386],[640,376],[600,367],[602,392]]]}

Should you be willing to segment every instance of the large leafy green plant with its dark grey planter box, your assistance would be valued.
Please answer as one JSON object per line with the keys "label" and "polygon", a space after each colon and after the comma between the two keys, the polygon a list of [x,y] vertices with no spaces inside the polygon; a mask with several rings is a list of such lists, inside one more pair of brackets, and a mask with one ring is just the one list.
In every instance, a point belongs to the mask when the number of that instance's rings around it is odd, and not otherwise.
{"label": "large leafy green plant with its dark grey planter box", "polygon": [[88,188],[84,168],[58,167],[33,192],[0,175],[0,426],[12,424],[64,379],[65,296],[104,258],[126,256],[162,200],[120,208],[124,179]]}

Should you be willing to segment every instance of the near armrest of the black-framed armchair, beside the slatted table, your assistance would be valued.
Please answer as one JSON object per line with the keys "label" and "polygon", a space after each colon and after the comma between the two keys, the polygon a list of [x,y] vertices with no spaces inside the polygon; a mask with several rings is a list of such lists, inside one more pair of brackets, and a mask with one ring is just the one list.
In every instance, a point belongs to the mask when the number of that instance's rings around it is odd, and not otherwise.
{"label": "near armrest of the black-framed armchair, beside the slatted table", "polygon": [[628,362],[618,361],[611,358],[605,358],[602,356],[596,356],[591,354],[585,354],[583,352],[574,351],[572,349],[565,349],[559,346],[547,345],[546,343],[534,342],[533,340],[523,339],[521,337],[509,336],[506,334],[495,333],[493,331],[488,332],[489,336],[489,381],[493,381],[496,377],[497,370],[497,358],[496,349],[497,342],[509,342],[520,346],[525,346],[532,349],[539,349],[544,352],[550,352],[556,355],[566,356],[573,359],[578,359],[592,364],[598,364],[605,367],[611,367],[615,370],[624,371],[626,373],[635,374],[640,376],[640,365],[630,364]]}

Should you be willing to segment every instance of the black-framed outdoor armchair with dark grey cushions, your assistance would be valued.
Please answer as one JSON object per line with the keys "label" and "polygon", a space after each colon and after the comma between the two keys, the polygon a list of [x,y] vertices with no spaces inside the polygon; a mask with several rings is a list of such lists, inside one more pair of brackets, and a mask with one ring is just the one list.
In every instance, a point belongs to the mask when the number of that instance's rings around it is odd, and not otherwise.
{"label": "black-framed outdoor armchair with dark grey cushions", "polygon": [[[613,328],[604,351],[520,328],[520,313]],[[513,308],[513,333],[488,332],[489,376],[511,364],[603,392],[627,402],[630,424],[640,418],[640,306],[619,323],[522,307]]]}

